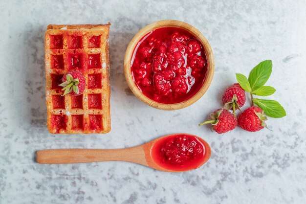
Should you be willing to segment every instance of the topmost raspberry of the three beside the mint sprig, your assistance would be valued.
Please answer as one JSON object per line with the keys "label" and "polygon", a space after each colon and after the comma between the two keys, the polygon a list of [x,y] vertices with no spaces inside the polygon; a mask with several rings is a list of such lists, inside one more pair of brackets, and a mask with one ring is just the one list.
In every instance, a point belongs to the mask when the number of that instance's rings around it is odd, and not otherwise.
{"label": "topmost raspberry of the three beside the mint sprig", "polygon": [[238,83],[227,88],[222,95],[222,102],[227,110],[233,109],[234,103],[235,107],[240,109],[244,105],[245,100],[245,91]]}

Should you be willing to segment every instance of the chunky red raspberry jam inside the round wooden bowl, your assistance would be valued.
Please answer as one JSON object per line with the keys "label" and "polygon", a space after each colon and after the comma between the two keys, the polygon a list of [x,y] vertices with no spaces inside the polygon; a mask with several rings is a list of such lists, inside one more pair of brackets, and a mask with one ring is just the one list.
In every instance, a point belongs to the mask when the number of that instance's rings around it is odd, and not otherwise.
{"label": "chunky red raspberry jam inside the round wooden bowl", "polygon": [[185,101],[205,80],[207,57],[191,33],[174,27],[156,29],[137,44],[131,74],[138,89],[164,104]]}

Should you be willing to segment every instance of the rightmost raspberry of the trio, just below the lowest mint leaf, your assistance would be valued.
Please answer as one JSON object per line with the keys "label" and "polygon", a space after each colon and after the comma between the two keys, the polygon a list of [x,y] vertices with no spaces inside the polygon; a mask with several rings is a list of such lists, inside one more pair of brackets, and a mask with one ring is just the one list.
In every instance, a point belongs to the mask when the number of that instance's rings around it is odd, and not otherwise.
{"label": "rightmost raspberry of the trio, just below the lowest mint leaf", "polygon": [[263,114],[262,109],[251,106],[240,114],[238,125],[248,132],[257,132],[266,127],[265,120],[267,120],[267,117]]}

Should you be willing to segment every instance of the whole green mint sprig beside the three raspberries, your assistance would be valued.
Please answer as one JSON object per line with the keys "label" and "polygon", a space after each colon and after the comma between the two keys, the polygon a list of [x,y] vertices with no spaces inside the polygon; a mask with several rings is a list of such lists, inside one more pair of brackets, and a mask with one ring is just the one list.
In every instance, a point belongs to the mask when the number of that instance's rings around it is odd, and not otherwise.
{"label": "whole green mint sprig beside the three raspberries", "polygon": [[272,72],[272,61],[265,60],[259,63],[249,74],[249,78],[245,75],[237,73],[236,78],[241,88],[247,92],[250,92],[251,106],[254,103],[258,105],[266,115],[270,117],[284,117],[286,112],[283,106],[275,100],[264,100],[259,98],[253,98],[254,95],[269,96],[276,90],[270,86],[263,86],[269,79]]}

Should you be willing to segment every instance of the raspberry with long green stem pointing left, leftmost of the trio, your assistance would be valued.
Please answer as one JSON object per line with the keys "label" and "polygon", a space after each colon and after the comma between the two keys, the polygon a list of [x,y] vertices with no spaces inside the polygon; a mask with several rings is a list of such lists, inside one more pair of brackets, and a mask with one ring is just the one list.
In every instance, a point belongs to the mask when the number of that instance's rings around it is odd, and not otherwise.
{"label": "raspberry with long green stem pointing left, leftmost of the trio", "polygon": [[212,124],[212,129],[218,134],[223,134],[228,131],[234,130],[237,126],[237,119],[232,113],[225,109],[218,109],[214,113],[209,115],[209,119],[199,124]]}

